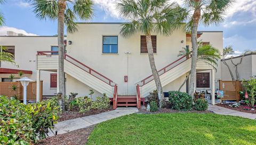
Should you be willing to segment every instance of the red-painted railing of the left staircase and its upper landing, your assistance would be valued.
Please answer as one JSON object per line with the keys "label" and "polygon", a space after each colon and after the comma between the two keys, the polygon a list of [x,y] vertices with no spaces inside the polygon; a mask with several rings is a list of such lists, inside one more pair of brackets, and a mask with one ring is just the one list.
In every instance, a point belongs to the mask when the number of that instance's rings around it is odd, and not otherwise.
{"label": "red-painted railing of the left staircase and its upper landing", "polygon": [[[49,55],[51,57],[51,55],[58,55],[56,53],[58,53],[58,51],[38,51],[37,55]],[[102,74],[100,74],[100,72],[84,65],[82,62],[74,59],[73,57],[70,57],[67,54],[65,54],[65,60],[72,63],[76,67],[83,69],[84,71],[88,72],[89,74],[93,75],[94,77],[97,77],[98,79],[102,80],[103,82],[107,83],[110,86],[116,85],[116,83],[114,83],[113,80],[107,78],[106,76],[103,76]]]}

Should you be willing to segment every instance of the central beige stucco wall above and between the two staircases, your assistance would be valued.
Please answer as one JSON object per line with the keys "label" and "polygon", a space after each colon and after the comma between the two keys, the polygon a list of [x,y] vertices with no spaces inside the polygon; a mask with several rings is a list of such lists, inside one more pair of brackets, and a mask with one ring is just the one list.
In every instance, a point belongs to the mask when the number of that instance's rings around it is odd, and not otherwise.
{"label": "central beige stucco wall above and between the two staircases", "polygon": [[[119,35],[120,28],[119,24],[78,24],[78,32],[67,35],[67,41],[72,41],[67,46],[67,54],[116,82],[119,95],[134,95],[135,83],[149,76],[151,69],[148,55],[140,54],[141,34],[123,38]],[[102,54],[102,36],[105,35],[118,36],[118,54]],[[178,59],[178,52],[186,46],[182,40],[186,42],[186,34],[182,30],[174,31],[169,37],[157,35],[157,69]],[[128,82],[124,82],[125,75],[128,75]],[[74,85],[69,79],[67,86]],[[70,90],[67,87],[67,92],[70,91],[80,92],[78,88]]]}

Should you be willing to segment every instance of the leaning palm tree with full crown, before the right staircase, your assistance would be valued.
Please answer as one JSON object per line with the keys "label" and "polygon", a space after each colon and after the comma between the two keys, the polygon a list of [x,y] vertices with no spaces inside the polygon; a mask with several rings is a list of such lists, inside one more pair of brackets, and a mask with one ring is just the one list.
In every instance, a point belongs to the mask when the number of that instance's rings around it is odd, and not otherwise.
{"label": "leaning palm tree with full crown, before the right staircase", "polygon": [[130,20],[121,25],[123,37],[130,37],[137,32],[146,35],[149,63],[160,100],[159,107],[162,107],[165,104],[164,94],[155,65],[151,33],[169,36],[175,29],[184,26],[178,18],[180,7],[166,0],[121,0],[117,3],[117,9],[124,18]]}

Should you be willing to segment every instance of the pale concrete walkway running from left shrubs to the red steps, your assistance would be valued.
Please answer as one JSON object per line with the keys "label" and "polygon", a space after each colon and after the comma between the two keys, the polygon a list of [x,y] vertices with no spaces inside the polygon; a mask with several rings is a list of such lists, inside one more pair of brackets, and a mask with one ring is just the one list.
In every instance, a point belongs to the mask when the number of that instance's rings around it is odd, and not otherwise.
{"label": "pale concrete walkway running from left shrubs to the red steps", "polygon": [[[53,132],[58,131],[58,134],[67,133],[70,131],[78,130],[80,128],[85,128],[94,124],[105,122],[106,120],[117,118],[124,115],[133,114],[138,112],[136,107],[129,108],[117,108],[116,110],[103,112],[96,115],[85,116],[76,119],[65,120],[59,122],[55,125]],[[49,133],[49,136],[54,136],[52,132]]]}

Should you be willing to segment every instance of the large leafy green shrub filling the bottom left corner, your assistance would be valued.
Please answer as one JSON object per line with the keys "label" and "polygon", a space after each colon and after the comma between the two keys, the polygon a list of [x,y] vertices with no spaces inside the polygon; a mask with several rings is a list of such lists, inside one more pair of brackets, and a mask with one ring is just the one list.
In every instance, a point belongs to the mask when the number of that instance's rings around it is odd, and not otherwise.
{"label": "large leafy green shrub filling the bottom left corner", "polygon": [[30,144],[45,138],[58,119],[59,107],[53,102],[24,105],[0,96],[0,144]]}

